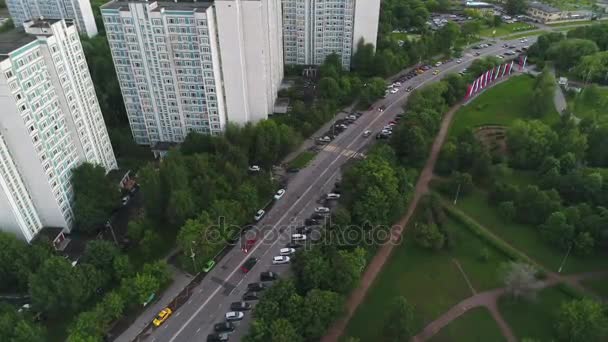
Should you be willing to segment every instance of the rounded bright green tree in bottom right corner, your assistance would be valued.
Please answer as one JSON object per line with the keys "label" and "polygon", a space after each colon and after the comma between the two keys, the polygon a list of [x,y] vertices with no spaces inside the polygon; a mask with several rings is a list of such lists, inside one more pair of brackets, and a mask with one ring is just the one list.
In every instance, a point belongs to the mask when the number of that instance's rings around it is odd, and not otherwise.
{"label": "rounded bright green tree in bottom right corner", "polygon": [[557,314],[557,335],[563,341],[605,341],[608,316],[602,304],[591,299],[562,303]]}

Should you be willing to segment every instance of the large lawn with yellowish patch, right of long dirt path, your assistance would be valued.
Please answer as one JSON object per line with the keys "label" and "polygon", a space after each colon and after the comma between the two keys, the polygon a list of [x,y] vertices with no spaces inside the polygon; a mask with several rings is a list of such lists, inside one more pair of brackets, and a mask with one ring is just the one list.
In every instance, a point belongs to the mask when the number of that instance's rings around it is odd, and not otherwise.
{"label": "large lawn with yellowish patch, right of long dirt path", "polygon": [[[417,332],[459,301],[470,297],[471,291],[454,259],[460,262],[476,290],[501,286],[496,270],[506,257],[460,224],[448,221],[446,227],[451,231],[454,246],[440,252],[419,248],[412,241],[411,233],[406,233],[404,243],[393,251],[350,320],[345,336],[358,337],[361,341],[381,341],[386,308],[397,296],[404,296],[415,305]],[[491,251],[486,262],[479,258],[484,247]]]}

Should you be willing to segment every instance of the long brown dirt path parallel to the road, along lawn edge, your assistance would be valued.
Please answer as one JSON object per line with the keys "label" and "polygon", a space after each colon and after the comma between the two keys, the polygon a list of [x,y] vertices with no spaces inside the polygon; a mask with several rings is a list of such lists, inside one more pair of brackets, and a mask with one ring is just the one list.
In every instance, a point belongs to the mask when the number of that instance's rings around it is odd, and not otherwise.
{"label": "long brown dirt path parallel to the road, along lawn edge", "polygon": [[374,279],[384,266],[384,263],[388,260],[393,251],[393,247],[397,245],[396,242],[399,242],[401,239],[401,233],[407,226],[410,218],[414,214],[416,210],[416,206],[418,205],[418,201],[420,198],[428,192],[429,181],[433,178],[433,170],[435,169],[435,163],[437,162],[437,158],[439,157],[439,152],[441,151],[441,146],[443,146],[443,142],[448,133],[448,129],[454,118],[454,114],[460,108],[461,105],[456,105],[448,111],[443,120],[441,122],[441,128],[439,129],[439,133],[435,137],[435,141],[433,142],[433,146],[431,148],[431,153],[429,155],[429,159],[426,161],[424,169],[418,178],[418,182],[416,183],[416,188],[414,191],[414,196],[412,201],[409,204],[406,215],[392,227],[391,230],[391,238],[389,243],[385,243],[376,253],[370,264],[367,266],[363,276],[361,277],[361,281],[359,286],[351,293],[348,301],[346,302],[346,313],[344,317],[331,327],[331,329],[327,332],[327,334],[321,339],[322,342],[336,342],[338,338],[343,334],[344,329],[346,329],[346,325],[355,310],[361,304],[367,291],[371,287]]}

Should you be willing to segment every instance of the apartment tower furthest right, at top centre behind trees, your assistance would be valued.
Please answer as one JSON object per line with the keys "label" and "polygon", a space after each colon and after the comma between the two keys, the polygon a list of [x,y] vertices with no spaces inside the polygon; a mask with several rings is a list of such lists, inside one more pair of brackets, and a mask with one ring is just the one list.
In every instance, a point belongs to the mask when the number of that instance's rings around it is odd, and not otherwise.
{"label": "apartment tower furthest right, at top centre behind trees", "polygon": [[336,53],[345,69],[361,39],[376,45],[380,0],[281,0],[285,64],[319,65]]}

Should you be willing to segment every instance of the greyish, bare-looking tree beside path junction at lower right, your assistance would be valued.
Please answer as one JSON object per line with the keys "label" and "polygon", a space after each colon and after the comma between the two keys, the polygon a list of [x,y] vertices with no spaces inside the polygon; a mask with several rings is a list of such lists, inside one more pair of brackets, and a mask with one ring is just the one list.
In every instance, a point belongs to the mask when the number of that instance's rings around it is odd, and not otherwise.
{"label": "greyish, bare-looking tree beside path junction at lower right", "polygon": [[538,271],[530,264],[511,261],[503,265],[502,272],[507,293],[516,299],[531,299],[539,289]]}

